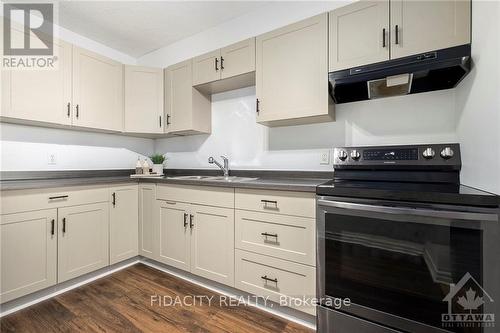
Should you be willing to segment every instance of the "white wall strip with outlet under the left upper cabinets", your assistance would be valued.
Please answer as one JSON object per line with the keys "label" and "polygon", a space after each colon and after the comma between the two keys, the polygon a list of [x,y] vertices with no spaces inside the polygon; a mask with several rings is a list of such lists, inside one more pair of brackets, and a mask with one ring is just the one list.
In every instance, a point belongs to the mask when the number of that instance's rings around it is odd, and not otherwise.
{"label": "white wall strip with outlet under the left upper cabinets", "polygon": [[154,151],[151,139],[4,123],[0,139],[2,171],[133,169]]}

